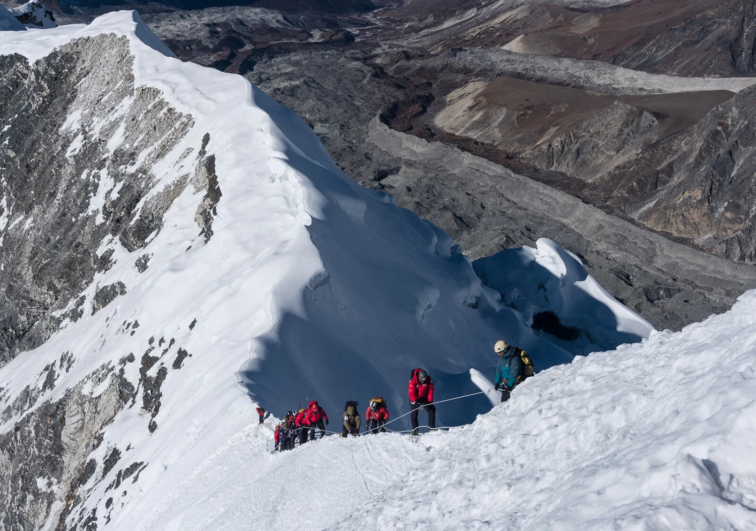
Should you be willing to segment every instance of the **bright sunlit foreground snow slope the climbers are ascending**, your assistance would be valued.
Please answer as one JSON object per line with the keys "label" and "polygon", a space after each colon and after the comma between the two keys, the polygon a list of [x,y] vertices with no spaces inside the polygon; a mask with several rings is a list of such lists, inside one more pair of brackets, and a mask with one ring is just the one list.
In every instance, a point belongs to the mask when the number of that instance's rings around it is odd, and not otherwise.
{"label": "bright sunlit foreground snow slope the climbers are ascending", "polygon": [[229,416],[112,527],[754,529],[754,325],[751,291],[681,332],[543,371],[448,433],[271,454],[273,421]]}

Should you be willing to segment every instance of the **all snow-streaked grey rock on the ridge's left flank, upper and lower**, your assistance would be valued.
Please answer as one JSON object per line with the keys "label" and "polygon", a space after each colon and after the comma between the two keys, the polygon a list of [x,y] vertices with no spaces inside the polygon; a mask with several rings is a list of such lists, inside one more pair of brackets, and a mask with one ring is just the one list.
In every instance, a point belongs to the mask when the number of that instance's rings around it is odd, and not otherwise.
{"label": "all snow-streaked grey rock on the ridge's left flank, upper and lower", "polygon": [[[116,263],[116,248],[128,250],[124,259],[135,275],[144,272],[151,253],[141,249],[160,232],[164,213],[187,186],[207,189],[209,201],[197,208],[197,232],[209,238],[218,191],[217,182],[211,184],[212,156],[200,145],[183,154],[186,172],[165,181],[158,168],[194,123],[160,91],[135,86],[125,36],[73,39],[32,64],[19,54],[2,55],[0,71],[5,293],[0,362],[5,364],[122,296],[121,281],[95,277]],[[0,424],[11,424],[0,436],[4,529],[39,529],[43,523],[54,529],[96,528],[95,511],[79,514],[73,526],[65,521],[78,508],[85,485],[91,488],[120,464],[116,447],[107,449],[103,461],[91,458],[103,441],[102,430],[140,393],[147,411],[160,407],[165,374],[147,374],[160,359],[148,355],[135,383],[124,376],[135,362],[130,354],[113,365],[85,368],[75,385],[49,398],[79,356],[63,351],[17,396],[0,389],[0,396],[12,398],[0,411]],[[115,483],[133,483],[146,464],[130,465],[116,467]],[[100,519],[103,523],[102,514]]]}

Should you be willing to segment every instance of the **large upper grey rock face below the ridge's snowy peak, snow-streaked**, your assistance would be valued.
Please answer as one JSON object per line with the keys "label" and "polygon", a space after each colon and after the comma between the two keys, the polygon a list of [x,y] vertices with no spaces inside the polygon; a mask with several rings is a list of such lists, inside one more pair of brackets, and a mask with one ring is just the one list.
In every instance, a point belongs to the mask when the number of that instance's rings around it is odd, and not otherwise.
{"label": "large upper grey rock face below the ridge's snowy peak, snow-streaked", "polygon": [[194,176],[150,194],[160,180],[154,166],[191,116],[155,90],[135,89],[125,39],[98,42],[79,39],[32,65],[20,55],[0,58],[0,362],[122,293],[95,285],[95,303],[72,299],[112,265],[107,244],[138,253],[160,231]]}

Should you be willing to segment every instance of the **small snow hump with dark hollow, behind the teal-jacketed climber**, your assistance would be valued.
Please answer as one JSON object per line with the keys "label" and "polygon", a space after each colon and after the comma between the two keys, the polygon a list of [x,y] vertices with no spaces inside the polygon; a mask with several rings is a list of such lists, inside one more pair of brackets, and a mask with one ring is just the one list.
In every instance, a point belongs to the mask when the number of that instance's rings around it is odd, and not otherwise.
{"label": "small snow hump with dark hollow, behind the teal-jacketed climber", "polygon": [[636,343],[654,330],[588,275],[578,256],[546,238],[535,249],[503,250],[473,267],[522,322],[573,354]]}

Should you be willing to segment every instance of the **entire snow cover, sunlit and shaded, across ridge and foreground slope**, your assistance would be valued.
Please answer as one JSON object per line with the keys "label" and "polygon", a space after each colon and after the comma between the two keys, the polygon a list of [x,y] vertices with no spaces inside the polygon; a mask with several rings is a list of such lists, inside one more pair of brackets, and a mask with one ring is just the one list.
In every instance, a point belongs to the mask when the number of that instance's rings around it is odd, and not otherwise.
{"label": "entire snow cover, sunlit and shaded, across ridge and foreground slope", "polygon": [[[215,155],[222,197],[208,241],[195,220],[203,191],[193,187],[173,200],[144,250],[106,241],[113,266],[82,293],[84,307],[98,286],[121,282],[125,293],[0,368],[0,411],[29,387],[41,390],[25,414],[82,382],[82,393],[105,393],[108,380],[86,384],[101,368],[135,387],[147,377],[162,384],[151,415],[132,402],[104,427],[67,526],[85,516],[88,529],[128,531],[754,524],[756,295],[705,324],[658,334],[550,241],[518,255],[530,259],[511,264],[523,272],[513,286],[505,278],[491,289],[440,229],[343,175],[293,113],[240,76],[181,63],[133,12],[0,33],[0,53],[36,61],[110,33],[129,40],[135,85],[159,90],[193,120],[156,157],[150,193],[191,173],[187,154],[201,148]],[[87,112],[76,110],[67,126]],[[118,112],[103,120],[117,123]],[[119,128],[102,123],[80,135],[91,141],[104,131],[110,136],[98,141],[117,144]],[[140,272],[143,252],[151,258]],[[530,328],[528,308],[542,309],[543,293],[522,283],[536,269],[554,277],[543,283],[550,299],[579,290],[581,304],[611,313],[615,332],[650,338],[573,362]],[[518,297],[502,299],[514,288]],[[550,309],[569,309],[560,315],[569,318],[575,305]],[[543,370],[506,405],[450,433],[330,436],[271,454],[274,420],[256,425],[256,403],[280,416],[313,398],[330,414],[329,430],[338,430],[347,399],[364,407],[382,395],[398,418],[409,372],[420,366],[435,379],[437,402],[474,392],[470,373],[493,376],[500,338],[524,346]],[[134,360],[150,353],[159,360],[142,370]],[[439,403],[438,423],[473,421],[488,399]],[[4,419],[0,433],[17,421]],[[67,428],[83,421],[67,418]],[[117,466],[105,467],[116,449]],[[126,467],[139,471],[121,483]],[[58,493],[62,510],[70,486],[37,482]],[[56,524],[51,517],[48,526]]]}

